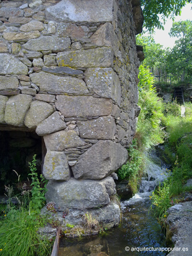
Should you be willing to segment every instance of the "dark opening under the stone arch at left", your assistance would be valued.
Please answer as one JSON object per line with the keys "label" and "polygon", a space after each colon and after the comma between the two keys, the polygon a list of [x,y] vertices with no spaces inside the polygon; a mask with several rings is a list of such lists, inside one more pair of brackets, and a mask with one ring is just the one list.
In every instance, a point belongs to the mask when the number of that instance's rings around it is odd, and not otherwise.
{"label": "dark opening under the stone arch at left", "polygon": [[27,182],[29,173],[28,162],[36,154],[36,167],[41,173],[42,142],[35,132],[26,131],[0,131],[0,194],[4,194],[4,185],[18,187]]}

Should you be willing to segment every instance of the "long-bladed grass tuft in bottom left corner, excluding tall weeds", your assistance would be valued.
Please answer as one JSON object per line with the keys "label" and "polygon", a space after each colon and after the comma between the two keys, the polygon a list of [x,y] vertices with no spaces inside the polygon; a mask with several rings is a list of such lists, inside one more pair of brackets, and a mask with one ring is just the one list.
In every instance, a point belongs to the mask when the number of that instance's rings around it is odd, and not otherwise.
{"label": "long-bladed grass tuft in bottom left corner, excluding tall weeds", "polygon": [[[51,255],[52,243],[38,234],[41,222],[28,218],[30,208],[12,208],[0,221],[0,249],[3,256]],[[39,225],[38,225],[39,224]]]}

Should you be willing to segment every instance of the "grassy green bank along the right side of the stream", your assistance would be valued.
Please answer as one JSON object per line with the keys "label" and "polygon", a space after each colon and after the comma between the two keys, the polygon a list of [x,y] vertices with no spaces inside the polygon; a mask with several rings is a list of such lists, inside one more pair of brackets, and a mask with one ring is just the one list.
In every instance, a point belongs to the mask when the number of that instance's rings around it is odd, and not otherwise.
{"label": "grassy green bank along the right side of the stream", "polygon": [[166,209],[174,203],[173,197],[183,191],[191,190],[184,188],[183,184],[192,176],[192,104],[187,103],[188,111],[183,118],[178,114],[175,102],[170,103],[169,108],[171,114],[167,112],[164,118],[166,132],[169,135],[164,153],[165,158],[169,159],[173,166],[172,173],[151,197],[152,205],[156,206],[154,212],[160,218],[166,215]]}

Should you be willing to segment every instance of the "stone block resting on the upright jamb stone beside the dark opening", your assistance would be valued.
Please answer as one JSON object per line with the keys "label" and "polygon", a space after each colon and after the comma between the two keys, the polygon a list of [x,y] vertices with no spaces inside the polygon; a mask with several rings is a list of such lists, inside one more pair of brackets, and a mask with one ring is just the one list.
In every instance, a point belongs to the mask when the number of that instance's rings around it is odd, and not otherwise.
{"label": "stone block resting on the upright jamb stone beside the dark opening", "polygon": [[73,130],[58,131],[45,135],[44,141],[47,150],[51,151],[63,151],[64,149],[77,148],[84,145],[82,139]]}

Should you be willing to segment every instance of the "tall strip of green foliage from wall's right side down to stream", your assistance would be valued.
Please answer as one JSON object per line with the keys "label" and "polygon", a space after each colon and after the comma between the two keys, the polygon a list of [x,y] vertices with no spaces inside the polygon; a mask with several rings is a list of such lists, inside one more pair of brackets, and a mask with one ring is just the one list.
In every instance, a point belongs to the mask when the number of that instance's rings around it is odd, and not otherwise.
{"label": "tall strip of green foliage from wall's right side down to stream", "polygon": [[144,150],[163,142],[164,132],[160,129],[163,117],[163,102],[157,96],[151,72],[141,65],[139,68],[139,106],[137,132],[133,144],[129,146],[129,159],[117,172],[120,180],[128,179],[133,193],[138,190],[144,168]]}

